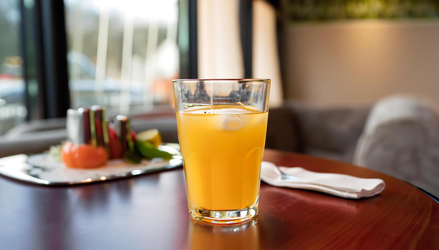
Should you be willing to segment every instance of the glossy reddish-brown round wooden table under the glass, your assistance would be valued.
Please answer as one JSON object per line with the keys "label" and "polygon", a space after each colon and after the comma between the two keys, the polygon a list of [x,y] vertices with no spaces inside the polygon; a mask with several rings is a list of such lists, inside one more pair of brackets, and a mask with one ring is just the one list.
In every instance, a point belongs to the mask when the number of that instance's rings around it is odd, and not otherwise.
{"label": "glossy reddish-brown round wooden table under the glass", "polygon": [[183,169],[72,187],[0,177],[0,249],[439,249],[439,203],[401,180],[342,162],[266,150],[265,160],[381,178],[348,200],[261,183],[259,216],[194,223]]}

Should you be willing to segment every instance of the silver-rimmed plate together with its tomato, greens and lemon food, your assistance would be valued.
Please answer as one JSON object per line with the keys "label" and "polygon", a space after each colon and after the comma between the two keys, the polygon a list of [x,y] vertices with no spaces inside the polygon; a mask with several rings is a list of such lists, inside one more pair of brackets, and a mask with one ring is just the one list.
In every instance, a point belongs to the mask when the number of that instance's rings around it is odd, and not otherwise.
{"label": "silver-rimmed plate together with its tomato, greens and lemon food", "polygon": [[0,174],[41,185],[107,181],[183,166],[179,144],[162,143],[156,129],[138,134],[126,116],[105,121],[100,106],[69,109],[67,141],[36,155],[0,158]]}

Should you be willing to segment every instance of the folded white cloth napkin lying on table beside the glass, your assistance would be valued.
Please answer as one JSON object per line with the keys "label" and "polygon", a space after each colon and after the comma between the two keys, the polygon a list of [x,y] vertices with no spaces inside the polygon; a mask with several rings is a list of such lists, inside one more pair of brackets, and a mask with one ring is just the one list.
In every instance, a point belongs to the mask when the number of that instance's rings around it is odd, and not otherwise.
{"label": "folded white cloth napkin lying on table beside the glass", "polygon": [[[282,179],[282,173],[297,179]],[[272,162],[262,162],[261,180],[277,187],[315,190],[339,197],[359,199],[381,193],[385,183],[381,179],[364,179],[344,174],[316,173],[301,167],[279,167]]]}

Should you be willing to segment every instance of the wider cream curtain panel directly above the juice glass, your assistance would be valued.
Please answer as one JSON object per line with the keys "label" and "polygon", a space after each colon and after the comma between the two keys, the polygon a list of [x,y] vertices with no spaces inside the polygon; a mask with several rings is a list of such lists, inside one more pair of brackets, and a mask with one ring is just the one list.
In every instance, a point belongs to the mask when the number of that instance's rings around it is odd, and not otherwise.
{"label": "wider cream curtain panel directly above the juice glass", "polygon": [[243,78],[239,1],[197,4],[198,78]]}

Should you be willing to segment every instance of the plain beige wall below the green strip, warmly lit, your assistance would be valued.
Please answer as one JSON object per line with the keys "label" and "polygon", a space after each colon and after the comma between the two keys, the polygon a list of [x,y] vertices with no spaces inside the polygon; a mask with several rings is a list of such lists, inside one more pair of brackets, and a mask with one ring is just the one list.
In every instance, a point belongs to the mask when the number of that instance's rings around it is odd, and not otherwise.
{"label": "plain beige wall below the green strip, warmly lit", "polygon": [[439,106],[439,21],[290,25],[283,42],[287,98],[346,106],[409,93]]}

